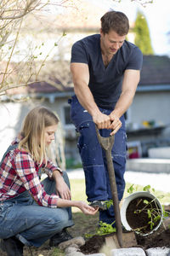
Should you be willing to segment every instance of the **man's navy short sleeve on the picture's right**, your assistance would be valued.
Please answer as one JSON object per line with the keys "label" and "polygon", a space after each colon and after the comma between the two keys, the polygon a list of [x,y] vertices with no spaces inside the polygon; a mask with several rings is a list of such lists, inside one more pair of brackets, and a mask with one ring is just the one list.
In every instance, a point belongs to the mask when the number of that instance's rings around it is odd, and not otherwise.
{"label": "man's navy short sleeve on the picture's right", "polygon": [[143,55],[138,47],[135,47],[130,55],[126,69],[141,70],[143,64]]}

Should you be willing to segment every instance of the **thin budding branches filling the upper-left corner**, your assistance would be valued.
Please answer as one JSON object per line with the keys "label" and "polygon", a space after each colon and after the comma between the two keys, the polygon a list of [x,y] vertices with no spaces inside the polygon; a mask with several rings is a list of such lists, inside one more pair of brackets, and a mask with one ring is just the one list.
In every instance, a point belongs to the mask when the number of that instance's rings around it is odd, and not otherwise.
{"label": "thin budding branches filling the upper-left corner", "polygon": [[[59,32],[50,48],[41,38],[47,30],[48,9],[53,0],[2,0],[0,3],[0,96],[8,89],[31,84],[40,78],[49,55],[65,32]],[[55,1],[57,8],[66,1]],[[46,25],[47,24],[47,25]],[[47,34],[46,34],[47,35]],[[36,42],[35,38],[38,37]],[[45,40],[45,39],[44,39]],[[48,49],[47,49],[48,47]]]}

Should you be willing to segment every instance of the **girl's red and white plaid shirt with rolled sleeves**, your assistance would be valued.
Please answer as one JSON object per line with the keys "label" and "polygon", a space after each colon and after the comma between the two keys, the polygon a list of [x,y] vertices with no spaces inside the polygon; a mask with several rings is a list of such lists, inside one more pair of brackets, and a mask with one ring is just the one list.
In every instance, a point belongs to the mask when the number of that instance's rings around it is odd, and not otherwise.
{"label": "girl's red and white plaid shirt with rolled sleeves", "polygon": [[[12,144],[14,143],[19,143],[19,139]],[[14,198],[27,190],[39,206],[57,207],[59,196],[48,195],[43,189],[38,177],[40,167],[45,167],[48,177],[52,177],[54,170],[60,171],[50,160],[47,166],[38,166],[28,152],[19,148],[9,151],[0,166],[0,202]]]}

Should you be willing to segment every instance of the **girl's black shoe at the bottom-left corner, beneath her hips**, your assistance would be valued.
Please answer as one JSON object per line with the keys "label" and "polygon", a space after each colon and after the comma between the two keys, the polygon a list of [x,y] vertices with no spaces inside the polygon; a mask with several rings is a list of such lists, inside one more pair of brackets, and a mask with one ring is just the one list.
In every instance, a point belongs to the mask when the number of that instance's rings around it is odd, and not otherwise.
{"label": "girl's black shoe at the bottom-left corner, beneath her hips", "polygon": [[24,244],[14,236],[2,239],[0,247],[8,256],[23,256]]}

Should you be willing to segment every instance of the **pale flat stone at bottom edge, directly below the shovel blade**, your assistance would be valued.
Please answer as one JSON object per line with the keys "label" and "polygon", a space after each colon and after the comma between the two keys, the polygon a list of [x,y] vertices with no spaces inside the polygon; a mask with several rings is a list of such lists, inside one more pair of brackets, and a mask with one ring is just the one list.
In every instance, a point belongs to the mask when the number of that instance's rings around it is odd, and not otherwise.
{"label": "pale flat stone at bottom edge, directly below the shovel blade", "polygon": [[120,248],[111,250],[111,256],[145,256],[144,250],[139,247]]}

